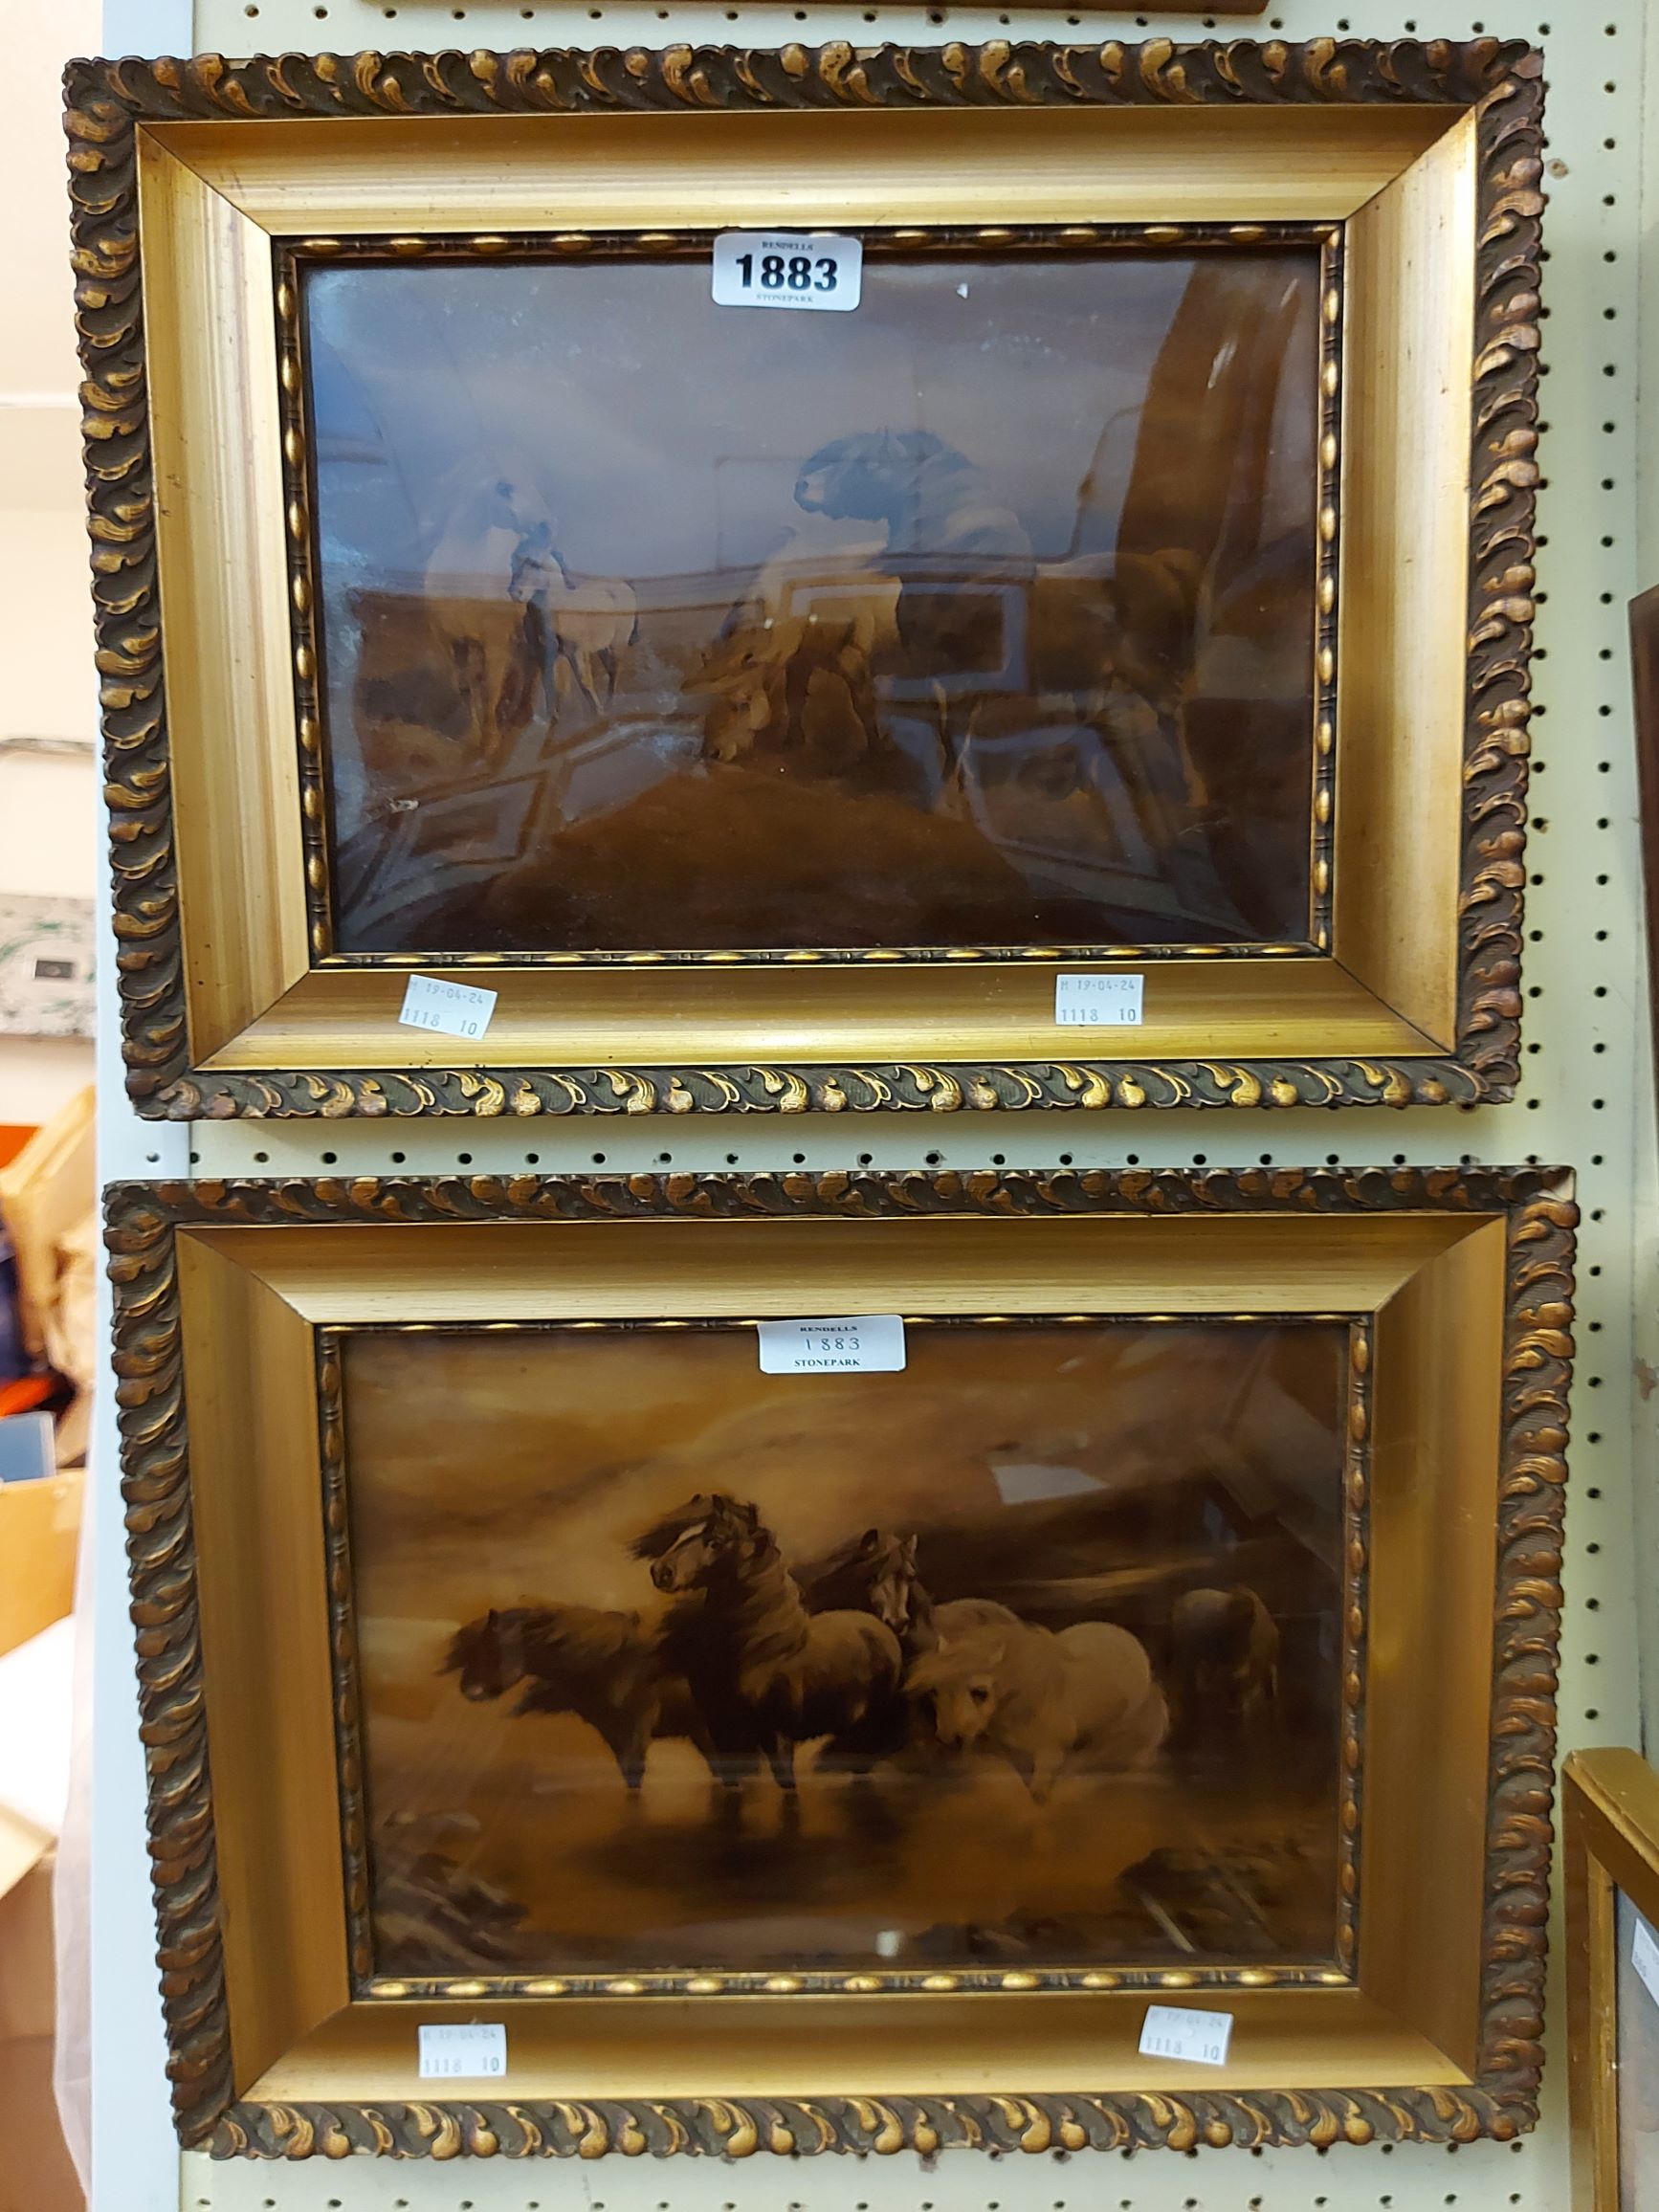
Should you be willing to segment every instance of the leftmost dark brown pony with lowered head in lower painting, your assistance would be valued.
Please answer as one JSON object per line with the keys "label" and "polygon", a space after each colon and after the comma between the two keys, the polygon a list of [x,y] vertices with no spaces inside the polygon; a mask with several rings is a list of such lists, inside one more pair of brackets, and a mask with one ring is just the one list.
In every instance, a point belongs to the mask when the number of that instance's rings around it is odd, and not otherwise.
{"label": "leftmost dark brown pony with lowered head in lower painting", "polygon": [[664,1736],[710,1743],[686,1683],[664,1670],[657,1637],[637,1613],[595,1606],[509,1606],[467,1621],[440,1668],[460,1674],[467,1699],[529,1688],[513,1712],[573,1712],[611,1745],[628,1790],[646,1776],[646,1750]]}

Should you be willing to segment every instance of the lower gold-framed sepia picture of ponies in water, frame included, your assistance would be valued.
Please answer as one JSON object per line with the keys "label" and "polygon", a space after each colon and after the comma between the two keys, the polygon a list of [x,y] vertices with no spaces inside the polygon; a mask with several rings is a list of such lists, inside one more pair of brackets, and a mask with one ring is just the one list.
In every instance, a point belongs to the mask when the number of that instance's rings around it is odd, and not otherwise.
{"label": "lower gold-framed sepia picture of ponies in water, frame included", "polygon": [[1528,2128],[1573,1221],[1537,1168],[117,1186],[184,2139]]}

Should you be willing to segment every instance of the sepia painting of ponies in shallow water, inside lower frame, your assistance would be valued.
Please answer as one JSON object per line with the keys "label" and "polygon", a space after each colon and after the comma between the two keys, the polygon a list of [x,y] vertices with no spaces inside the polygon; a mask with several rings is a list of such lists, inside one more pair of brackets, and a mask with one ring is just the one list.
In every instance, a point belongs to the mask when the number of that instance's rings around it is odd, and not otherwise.
{"label": "sepia painting of ponies in shallow water, inside lower frame", "polygon": [[1338,1323],[347,1336],[376,1969],[1329,1966],[1345,1387]]}

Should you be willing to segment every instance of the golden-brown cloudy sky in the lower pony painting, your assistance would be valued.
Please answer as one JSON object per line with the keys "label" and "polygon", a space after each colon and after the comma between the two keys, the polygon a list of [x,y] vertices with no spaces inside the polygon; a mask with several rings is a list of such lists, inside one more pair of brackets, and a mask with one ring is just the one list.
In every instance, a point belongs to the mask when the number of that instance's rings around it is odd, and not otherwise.
{"label": "golden-brown cloudy sky in the lower pony painting", "polygon": [[[367,1332],[345,1376],[369,1615],[648,1604],[628,1540],[699,1491],[752,1498],[796,1562],[869,1522],[1194,1473],[1321,1517],[1338,1500],[1338,1325],[911,1329],[902,1376],[787,1378],[759,1371],[748,1329]],[[1033,1489],[1040,1469],[1062,1480]]]}

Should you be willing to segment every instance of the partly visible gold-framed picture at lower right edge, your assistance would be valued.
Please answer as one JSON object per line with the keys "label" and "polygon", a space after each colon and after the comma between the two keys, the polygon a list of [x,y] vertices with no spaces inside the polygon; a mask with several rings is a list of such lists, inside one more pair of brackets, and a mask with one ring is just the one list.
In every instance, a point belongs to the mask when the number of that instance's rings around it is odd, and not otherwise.
{"label": "partly visible gold-framed picture at lower right edge", "polygon": [[1562,1770],[1566,2053],[1577,2212],[1659,2205],[1659,1776],[1639,1752]]}

